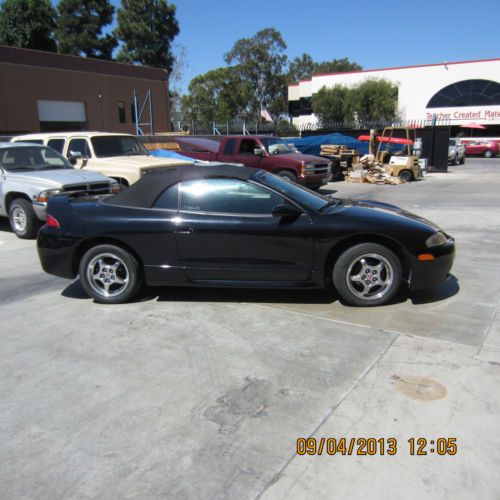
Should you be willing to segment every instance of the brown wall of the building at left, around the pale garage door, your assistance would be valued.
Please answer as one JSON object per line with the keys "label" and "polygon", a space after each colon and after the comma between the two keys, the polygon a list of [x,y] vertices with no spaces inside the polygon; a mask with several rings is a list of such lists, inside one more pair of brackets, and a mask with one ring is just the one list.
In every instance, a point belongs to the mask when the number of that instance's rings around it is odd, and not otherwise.
{"label": "brown wall of the building at left, around the pale garage door", "polygon": [[[15,58],[11,56],[16,54],[13,50],[21,51],[22,56],[28,53],[30,60],[21,57],[19,64],[12,62]],[[44,65],[36,66],[38,54],[41,54],[40,64]],[[43,52],[23,49],[9,48],[8,53],[0,50],[0,134],[40,131],[38,100],[84,102],[88,130],[135,133],[131,112],[133,92],[138,93],[142,105],[148,89],[152,95],[154,131],[170,131],[168,89],[163,71],[151,69],[145,74],[149,78],[144,78],[144,74],[136,70],[146,68],[103,61],[94,68],[85,66],[84,58],[51,54],[51,58],[45,60],[45,56]],[[60,64],[61,58],[62,62],[68,62],[68,69],[57,67],[64,66]],[[156,75],[161,79],[151,78]],[[125,123],[119,120],[119,101],[125,102]]]}

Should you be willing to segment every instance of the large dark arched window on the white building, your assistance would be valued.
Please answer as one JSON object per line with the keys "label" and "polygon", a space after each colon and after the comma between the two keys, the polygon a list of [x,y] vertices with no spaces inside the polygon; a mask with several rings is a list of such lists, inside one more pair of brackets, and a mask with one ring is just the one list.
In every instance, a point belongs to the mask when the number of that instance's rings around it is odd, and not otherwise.
{"label": "large dark arched window on the white building", "polygon": [[491,80],[462,80],[434,94],[428,108],[500,105],[500,83]]}

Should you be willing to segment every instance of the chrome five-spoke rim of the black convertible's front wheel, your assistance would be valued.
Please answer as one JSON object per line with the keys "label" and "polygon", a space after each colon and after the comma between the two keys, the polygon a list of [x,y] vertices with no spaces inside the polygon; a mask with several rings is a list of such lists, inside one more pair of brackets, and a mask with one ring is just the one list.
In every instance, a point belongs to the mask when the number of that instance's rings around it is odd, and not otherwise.
{"label": "chrome five-spoke rim of the black convertible's front wheel", "polygon": [[347,286],[360,299],[380,299],[389,292],[394,280],[391,263],[377,253],[357,257],[347,270]]}

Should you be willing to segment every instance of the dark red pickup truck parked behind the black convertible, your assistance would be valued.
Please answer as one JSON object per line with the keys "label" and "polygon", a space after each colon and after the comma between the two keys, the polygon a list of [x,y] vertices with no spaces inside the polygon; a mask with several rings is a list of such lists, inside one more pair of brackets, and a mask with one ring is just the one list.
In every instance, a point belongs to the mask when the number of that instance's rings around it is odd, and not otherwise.
{"label": "dark red pickup truck parked behind the black convertible", "polygon": [[319,156],[297,153],[279,137],[265,135],[228,135],[221,140],[202,137],[175,137],[179,152],[198,160],[242,163],[261,168],[318,189],[331,179],[331,163]]}

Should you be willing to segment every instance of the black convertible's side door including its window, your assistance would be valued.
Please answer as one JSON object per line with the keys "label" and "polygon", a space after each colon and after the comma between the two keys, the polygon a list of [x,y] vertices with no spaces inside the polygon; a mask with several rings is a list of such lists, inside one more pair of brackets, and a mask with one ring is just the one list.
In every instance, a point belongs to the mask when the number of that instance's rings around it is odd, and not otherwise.
{"label": "black convertible's side door including its window", "polygon": [[280,195],[237,179],[180,184],[175,232],[190,280],[307,281],[314,238],[309,216],[273,217],[272,208],[290,203]]}

